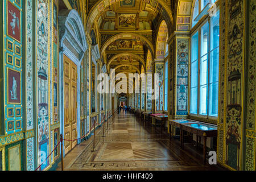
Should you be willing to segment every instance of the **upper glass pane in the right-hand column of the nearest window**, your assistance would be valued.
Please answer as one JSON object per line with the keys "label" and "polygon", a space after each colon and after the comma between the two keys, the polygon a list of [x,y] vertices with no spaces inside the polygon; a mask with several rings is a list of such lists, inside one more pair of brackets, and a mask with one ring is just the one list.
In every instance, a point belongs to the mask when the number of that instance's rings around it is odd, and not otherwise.
{"label": "upper glass pane in the right-hand column of the nearest window", "polygon": [[216,16],[211,19],[210,32],[210,49],[212,50],[220,44],[220,11],[217,11]]}

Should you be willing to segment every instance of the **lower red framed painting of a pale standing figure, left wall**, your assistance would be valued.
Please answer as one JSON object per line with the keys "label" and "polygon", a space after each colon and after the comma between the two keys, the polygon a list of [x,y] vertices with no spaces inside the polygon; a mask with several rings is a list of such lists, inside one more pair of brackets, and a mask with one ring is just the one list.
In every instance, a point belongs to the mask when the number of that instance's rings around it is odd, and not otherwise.
{"label": "lower red framed painting of a pale standing figure, left wall", "polygon": [[7,104],[21,104],[20,72],[7,68]]}

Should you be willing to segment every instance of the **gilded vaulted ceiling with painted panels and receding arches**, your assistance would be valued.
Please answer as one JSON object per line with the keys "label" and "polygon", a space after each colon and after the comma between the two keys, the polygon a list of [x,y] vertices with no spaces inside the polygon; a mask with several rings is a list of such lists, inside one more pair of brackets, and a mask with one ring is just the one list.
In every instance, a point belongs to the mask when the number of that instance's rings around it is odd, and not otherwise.
{"label": "gilded vaulted ceiling with painted panels and receding arches", "polygon": [[[172,24],[170,0],[88,1],[86,28],[96,32],[96,42],[106,69],[118,73],[141,73],[156,57],[160,23]],[[165,31],[168,33],[168,28]],[[165,40],[166,41],[166,40]],[[149,69],[152,69],[151,67]]]}

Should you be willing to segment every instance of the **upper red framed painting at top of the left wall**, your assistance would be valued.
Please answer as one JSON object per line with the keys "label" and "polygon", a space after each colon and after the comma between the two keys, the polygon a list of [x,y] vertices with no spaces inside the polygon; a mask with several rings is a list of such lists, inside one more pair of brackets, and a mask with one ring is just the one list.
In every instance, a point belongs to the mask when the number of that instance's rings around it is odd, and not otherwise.
{"label": "upper red framed painting at top of the left wall", "polygon": [[20,43],[20,10],[12,2],[7,1],[7,35]]}

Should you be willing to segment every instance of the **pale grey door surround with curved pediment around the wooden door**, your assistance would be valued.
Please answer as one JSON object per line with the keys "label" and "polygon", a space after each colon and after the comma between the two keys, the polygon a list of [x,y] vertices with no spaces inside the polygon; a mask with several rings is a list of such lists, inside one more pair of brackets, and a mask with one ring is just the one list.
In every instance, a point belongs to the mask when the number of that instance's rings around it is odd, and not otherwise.
{"label": "pale grey door surround with curved pediment around the wooden door", "polygon": [[[80,67],[81,60],[88,49],[84,26],[76,10],[61,10],[59,13],[60,52],[59,52],[59,103],[60,103],[60,133],[64,134],[64,55],[77,66],[77,138],[80,138]],[[77,144],[81,141],[78,140]],[[64,150],[64,148],[63,148]],[[64,154],[65,155],[65,154]]]}

